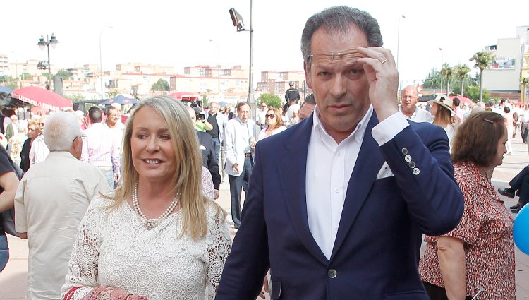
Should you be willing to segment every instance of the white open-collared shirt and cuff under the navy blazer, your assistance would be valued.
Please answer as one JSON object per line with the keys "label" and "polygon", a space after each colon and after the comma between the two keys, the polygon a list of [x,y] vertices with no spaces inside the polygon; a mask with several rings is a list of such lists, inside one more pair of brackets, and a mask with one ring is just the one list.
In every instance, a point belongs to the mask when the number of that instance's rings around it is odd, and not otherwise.
{"label": "white open-collared shirt and cuff under the navy blazer", "polygon": [[[305,177],[307,215],[310,232],[327,259],[331,258],[347,186],[372,113],[370,106],[351,135],[339,144],[322,126],[317,107],[313,114]],[[377,143],[383,145],[406,126],[409,126],[406,119],[396,112],[367,134],[372,134]]]}

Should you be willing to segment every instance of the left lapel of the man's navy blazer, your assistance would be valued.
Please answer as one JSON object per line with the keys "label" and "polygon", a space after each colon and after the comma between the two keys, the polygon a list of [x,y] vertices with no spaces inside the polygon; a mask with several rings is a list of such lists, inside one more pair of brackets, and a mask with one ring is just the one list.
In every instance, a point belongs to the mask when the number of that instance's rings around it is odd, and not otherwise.
{"label": "left lapel of the man's navy blazer", "polygon": [[285,139],[286,155],[281,157],[280,165],[288,167],[282,167],[279,171],[280,184],[294,230],[308,251],[319,259],[321,263],[327,265],[329,261],[317,245],[314,237],[312,237],[308,227],[305,177],[307,174],[308,143],[312,132],[312,118],[307,119],[298,126],[300,128],[291,131],[291,136]]}

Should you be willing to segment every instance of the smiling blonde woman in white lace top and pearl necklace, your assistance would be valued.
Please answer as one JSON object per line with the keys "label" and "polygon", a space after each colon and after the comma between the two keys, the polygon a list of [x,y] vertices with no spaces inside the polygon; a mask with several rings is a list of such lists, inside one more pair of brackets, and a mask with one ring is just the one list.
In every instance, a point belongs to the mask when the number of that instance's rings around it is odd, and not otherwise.
{"label": "smiling blonde woman in white lace top and pearl necklace", "polygon": [[195,128],[181,102],[138,102],[123,138],[123,182],[80,224],[66,299],[214,299],[231,250],[226,213],[202,191]]}

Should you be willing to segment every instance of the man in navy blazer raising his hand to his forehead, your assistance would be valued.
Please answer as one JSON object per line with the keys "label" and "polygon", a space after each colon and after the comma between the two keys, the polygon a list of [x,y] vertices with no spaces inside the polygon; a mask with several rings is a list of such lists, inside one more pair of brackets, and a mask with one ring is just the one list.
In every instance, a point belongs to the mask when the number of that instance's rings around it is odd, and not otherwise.
{"label": "man in navy blazer raising his hand to his forehead", "polygon": [[216,299],[429,299],[422,234],[457,226],[463,195],[446,133],[407,121],[377,20],[339,6],[310,17],[301,49],[317,106],[257,144],[242,224]]}

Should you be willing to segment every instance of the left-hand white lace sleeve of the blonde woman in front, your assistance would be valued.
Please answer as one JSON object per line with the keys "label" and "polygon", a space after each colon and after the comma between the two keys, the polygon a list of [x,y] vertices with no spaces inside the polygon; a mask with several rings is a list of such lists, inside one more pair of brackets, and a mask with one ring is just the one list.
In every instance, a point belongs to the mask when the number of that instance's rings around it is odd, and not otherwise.
{"label": "left-hand white lace sleeve of the blonde woman in front", "polygon": [[97,260],[101,239],[99,230],[102,224],[102,212],[94,207],[97,201],[92,200],[85,217],[79,224],[77,239],[72,248],[72,255],[68,262],[66,282],[61,289],[61,296],[68,293],[73,287],[75,290],[72,300],[80,300],[98,285]]}

